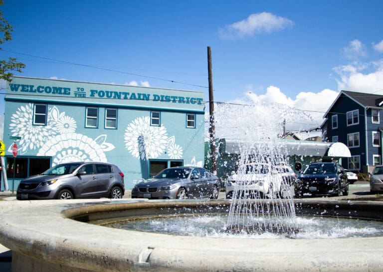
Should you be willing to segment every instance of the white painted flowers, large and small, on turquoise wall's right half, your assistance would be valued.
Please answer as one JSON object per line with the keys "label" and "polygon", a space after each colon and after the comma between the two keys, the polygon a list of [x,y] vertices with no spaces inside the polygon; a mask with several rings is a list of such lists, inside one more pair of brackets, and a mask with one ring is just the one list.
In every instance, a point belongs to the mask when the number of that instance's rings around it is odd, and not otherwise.
{"label": "white painted flowers, large and small, on turquoise wall's right half", "polygon": [[125,130],[125,147],[136,158],[158,158],[165,150],[172,159],[181,159],[183,149],[175,144],[175,137],[168,137],[164,126],[151,126],[148,116],[136,118]]}

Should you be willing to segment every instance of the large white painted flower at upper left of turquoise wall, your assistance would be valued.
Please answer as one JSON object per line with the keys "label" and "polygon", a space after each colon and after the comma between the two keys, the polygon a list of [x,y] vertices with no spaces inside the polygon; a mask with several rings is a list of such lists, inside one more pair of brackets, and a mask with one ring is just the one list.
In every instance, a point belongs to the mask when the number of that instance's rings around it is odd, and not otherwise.
{"label": "large white painted flower at upper left of turquoise wall", "polygon": [[[32,104],[21,106],[10,117],[11,136],[21,136],[21,140],[17,143],[20,155],[25,154],[28,149],[39,149],[49,138],[57,135],[49,123],[49,117],[46,126],[32,125],[32,120]],[[11,152],[11,149],[8,151]]]}

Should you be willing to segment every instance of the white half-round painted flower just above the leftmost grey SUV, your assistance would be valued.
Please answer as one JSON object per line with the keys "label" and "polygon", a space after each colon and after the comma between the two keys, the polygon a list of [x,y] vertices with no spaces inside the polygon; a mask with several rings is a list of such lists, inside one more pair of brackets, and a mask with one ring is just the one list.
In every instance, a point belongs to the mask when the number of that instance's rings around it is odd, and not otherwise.
{"label": "white half-round painted flower just above the leftmost grey SUV", "polygon": [[[100,137],[106,138],[105,135]],[[106,162],[104,149],[98,143],[100,137],[93,140],[86,135],[77,133],[57,135],[44,144],[37,156],[52,157],[52,166],[70,161]]]}

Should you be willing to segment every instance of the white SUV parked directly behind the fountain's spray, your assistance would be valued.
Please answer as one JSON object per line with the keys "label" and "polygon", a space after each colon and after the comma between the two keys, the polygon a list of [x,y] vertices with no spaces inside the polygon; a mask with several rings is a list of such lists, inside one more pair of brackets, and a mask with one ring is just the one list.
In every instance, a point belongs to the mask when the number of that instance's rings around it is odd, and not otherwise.
{"label": "white SUV parked directly behind the fountain's spray", "polygon": [[232,198],[234,192],[241,198],[283,198],[286,197],[289,183],[294,184],[295,173],[287,165],[272,166],[268,163],[250,163],[244,165],[228,177],[226,198]]}

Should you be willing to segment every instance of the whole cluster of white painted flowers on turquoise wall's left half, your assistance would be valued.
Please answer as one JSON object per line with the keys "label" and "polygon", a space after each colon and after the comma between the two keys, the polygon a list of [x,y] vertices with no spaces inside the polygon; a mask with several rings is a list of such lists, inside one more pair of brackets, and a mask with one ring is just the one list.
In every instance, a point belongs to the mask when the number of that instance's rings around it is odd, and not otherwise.
{"label": "whole cluster of white painted flowers on turquoise wall's left half", "polygon": [[[75,133],[77,124],[74,118],[65,115],[56,106],[48,108],[46,125],[32,125],[33,104],[19,107],[11,116],[9,129],[12,136],[20,136],[17,143],[19,154],[27,150],[37,150],[37,156],[52,157],[52,165],[68,161],[107,162],[104,152],[115,146],[106,142],[107,135],[92,139]],[[12,152],[11,146],[8,149]]]}

